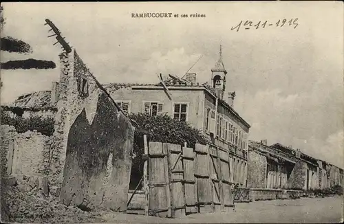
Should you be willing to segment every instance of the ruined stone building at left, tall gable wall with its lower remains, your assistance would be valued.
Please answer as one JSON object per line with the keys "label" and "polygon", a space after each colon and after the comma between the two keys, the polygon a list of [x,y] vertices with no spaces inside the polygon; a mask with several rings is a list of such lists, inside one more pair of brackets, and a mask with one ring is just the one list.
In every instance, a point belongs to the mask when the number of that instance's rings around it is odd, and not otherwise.
{"label": "ruined stone building at left, tall gable wall with its lower remains", "polygon": [[134,127],[75,49],[61,54],[60,63],[52,91],[3,107],[12,116],[55,120],[52,136],[1,126],[6,173],[21,182],[44,180],[45,194],[50,189],[65,205],[126,210]]}

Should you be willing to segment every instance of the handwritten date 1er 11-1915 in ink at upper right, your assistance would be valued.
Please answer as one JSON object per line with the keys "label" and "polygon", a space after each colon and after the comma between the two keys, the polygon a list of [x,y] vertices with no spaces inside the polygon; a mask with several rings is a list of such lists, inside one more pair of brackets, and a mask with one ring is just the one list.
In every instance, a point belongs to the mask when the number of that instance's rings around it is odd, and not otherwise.
{"label": "handwritten date 1er 11-1915 in ink at upper right", "polygon": [[265,27],[269,27],[269,26],[276,26],[276,27],[286,27],[286,26],[292,26],[294,27],[294,29],[299,25],[299,23],[297,23],[299,19],[279,19],[279,21],[277,21],[277,23],[268,23],[268,21],[259,21],[258,23],[253,23],[252,21],[240,21],[240,23],[238,25],[236,25],[235,27],[233,26],[230,30],[237,30],[237,32],[239,32],[240,28],[243,27],[245,28],[245,30],[250,30],[251,28],[254,30],[257,30],[259,28],[265,28]]}

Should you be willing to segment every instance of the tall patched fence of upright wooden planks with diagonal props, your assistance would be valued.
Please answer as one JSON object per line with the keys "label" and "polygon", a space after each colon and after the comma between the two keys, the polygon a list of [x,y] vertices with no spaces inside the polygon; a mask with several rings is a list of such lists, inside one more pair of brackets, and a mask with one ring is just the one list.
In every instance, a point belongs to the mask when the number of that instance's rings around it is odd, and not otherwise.
{"label": "tall patched fence of upright wooden planks with diagonal props", "polygon": [[[201,144],[193,149],[161,142],[149,142],[147,148],[148,184],[140,192],[145,195],[141,203],[145,208],[140,209],[144,214],[175,218],[234,207],[228,152]],[[136,191],[128,207],[133,194]]]}

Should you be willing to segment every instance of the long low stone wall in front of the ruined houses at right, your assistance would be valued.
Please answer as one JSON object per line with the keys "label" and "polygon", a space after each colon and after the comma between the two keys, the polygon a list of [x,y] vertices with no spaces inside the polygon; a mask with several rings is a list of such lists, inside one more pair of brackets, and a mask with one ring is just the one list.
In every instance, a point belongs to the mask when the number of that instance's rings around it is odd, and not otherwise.
{"label": "long low stone wall in front of the ruined houses at right", "polygon": [[298,199],[302,192],[301,190],[250,188],[250,200]]}

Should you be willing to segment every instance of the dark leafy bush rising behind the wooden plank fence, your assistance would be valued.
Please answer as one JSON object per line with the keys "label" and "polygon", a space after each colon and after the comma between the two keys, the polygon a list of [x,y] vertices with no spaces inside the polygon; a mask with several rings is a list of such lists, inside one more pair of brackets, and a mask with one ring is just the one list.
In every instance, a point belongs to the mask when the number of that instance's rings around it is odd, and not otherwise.
{"label": "dark leafy bush rising behind the wooden plank fence", "polygon": [[206,144],[202,131],[187,122],[173,120],[168,115],[147,115],[144,113],[131,114],[129,117],[138,124],[133,143],[133,161],[131,167],[131,184],[133,189],[138,184],[143,173],[142,154],[144,153],[143,135],[147,135],[148,142],[166,142],[195,148],[195,144]]}

